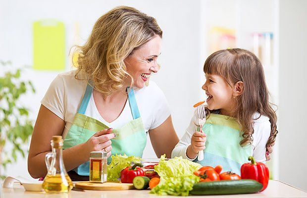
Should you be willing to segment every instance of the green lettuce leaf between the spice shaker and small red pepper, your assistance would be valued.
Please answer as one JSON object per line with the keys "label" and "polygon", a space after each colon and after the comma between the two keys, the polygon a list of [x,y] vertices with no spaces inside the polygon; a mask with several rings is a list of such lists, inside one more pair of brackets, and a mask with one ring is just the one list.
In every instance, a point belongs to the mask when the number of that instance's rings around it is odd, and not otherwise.
{"label": "green lettuce leaf between the spice shaker and small red pepper", "polygon": [[112,155],[112,161],[107,166],[107,181],[118,181],[122,169],[130,166],[132,161],[140,162],[141,157],[127,156],[127,155]]}

